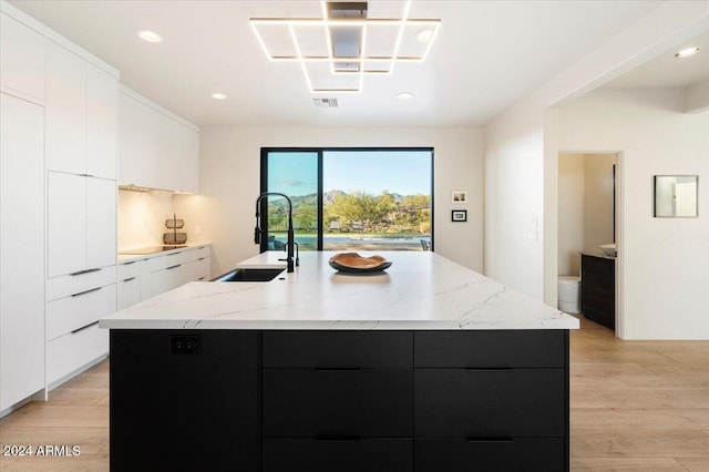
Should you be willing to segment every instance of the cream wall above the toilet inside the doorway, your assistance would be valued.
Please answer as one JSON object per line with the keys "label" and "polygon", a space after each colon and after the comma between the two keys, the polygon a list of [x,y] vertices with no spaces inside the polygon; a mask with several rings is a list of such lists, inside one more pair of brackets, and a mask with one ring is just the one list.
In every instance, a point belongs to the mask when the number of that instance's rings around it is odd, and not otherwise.
{"label": "cream wall above the toilet inside the doorway", "polygon": [[558,275],[579,274],[584,249],[585,155],[558,156]]}

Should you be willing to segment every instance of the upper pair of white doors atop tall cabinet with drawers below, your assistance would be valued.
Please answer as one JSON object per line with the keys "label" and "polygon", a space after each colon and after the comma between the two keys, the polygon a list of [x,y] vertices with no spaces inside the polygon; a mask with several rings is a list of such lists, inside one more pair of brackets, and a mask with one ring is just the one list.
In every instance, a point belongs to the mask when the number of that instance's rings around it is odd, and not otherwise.
{"label": "upper pair of white doors atop tall cabinet with drawers below", "polygon": [[47,44],[47,167],[115,179],[117,80]]}

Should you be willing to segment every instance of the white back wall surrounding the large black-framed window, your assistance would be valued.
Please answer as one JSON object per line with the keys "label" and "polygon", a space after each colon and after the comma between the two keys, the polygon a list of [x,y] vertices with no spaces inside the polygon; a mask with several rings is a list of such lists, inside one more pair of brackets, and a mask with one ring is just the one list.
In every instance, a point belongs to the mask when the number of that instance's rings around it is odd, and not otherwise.
{"label": "white back wall surrounding the large black-framed window", "polygon": [[[435,252],[483,269],[483,138],[476,129],[202,129],[199,196],[175,196],[175,209],[213,243],[213,274],[258,253],[254,240],[261,147],[433,147]],[[371,170],[376,172],[376,170]],[[467,191],[467,223],[451,223],[451,191]],[[394,260],[395,264],[395,260]]]}

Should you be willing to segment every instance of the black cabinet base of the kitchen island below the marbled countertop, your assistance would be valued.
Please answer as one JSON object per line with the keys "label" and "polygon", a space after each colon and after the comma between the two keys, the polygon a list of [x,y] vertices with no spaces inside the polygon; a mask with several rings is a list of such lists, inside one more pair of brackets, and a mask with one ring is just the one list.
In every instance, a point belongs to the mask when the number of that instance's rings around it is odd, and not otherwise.
{"label": "black cabinet base of the kitchen island below the marbled countertop", "polygon": [[114,471],[568,471],[566,330],[111,341]]}

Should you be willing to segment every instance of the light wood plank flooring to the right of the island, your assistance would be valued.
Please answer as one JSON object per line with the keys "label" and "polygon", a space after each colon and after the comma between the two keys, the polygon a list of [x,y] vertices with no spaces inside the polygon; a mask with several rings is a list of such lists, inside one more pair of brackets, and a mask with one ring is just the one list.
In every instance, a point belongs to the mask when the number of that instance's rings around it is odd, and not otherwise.
{"label": "light wood plank flooring to the right of the island", "polygon": [[709,341],[571,334],[573,471],[709,471]]}

